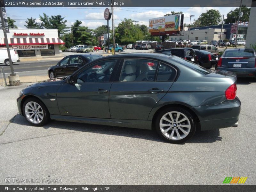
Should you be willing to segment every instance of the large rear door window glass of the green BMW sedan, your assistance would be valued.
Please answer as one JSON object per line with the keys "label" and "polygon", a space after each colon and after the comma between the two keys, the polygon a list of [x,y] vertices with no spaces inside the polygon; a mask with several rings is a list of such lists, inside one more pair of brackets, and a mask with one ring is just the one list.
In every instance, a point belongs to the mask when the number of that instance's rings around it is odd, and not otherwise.
{"label": "large rear door window glass of the green BMW sedan", "polygon": [[125,59],[119,78],[120,82],[153,81],[158,61],[147,59]]}

